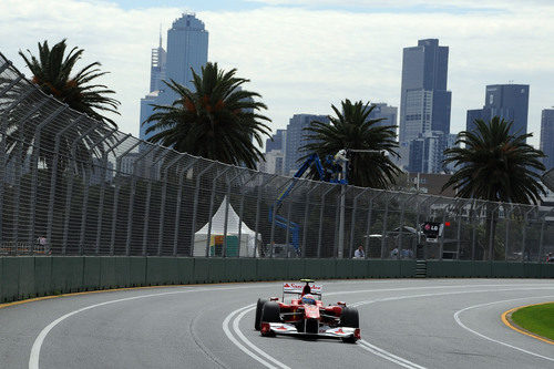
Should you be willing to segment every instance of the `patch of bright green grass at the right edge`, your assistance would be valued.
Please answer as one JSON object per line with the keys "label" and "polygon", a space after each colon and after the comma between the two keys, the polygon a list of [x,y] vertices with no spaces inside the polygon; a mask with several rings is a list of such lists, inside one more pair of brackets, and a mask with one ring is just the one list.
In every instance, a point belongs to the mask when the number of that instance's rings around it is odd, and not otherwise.
{"label": "patch of bright green grass at the right edge", "polygon": [[520,327],[554,340],[554,303],[524,307],[512,314]]}

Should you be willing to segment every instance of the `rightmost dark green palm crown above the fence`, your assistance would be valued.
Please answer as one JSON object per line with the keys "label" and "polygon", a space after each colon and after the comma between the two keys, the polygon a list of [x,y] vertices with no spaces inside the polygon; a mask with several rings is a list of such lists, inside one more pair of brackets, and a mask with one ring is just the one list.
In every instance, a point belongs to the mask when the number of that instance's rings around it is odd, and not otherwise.
{"label": "rightmost dark green palm crown above the fence", "polygon": [[474,123],[476,130],[461,132],[456,141],[465,147],[444,151],[444,164],[458,170],[443,189],[453,186],[458,197],[536,204],[545,194],[538,182],[544,154],[525,143],[533,134],[511,134],[513,122],[499,116]]}

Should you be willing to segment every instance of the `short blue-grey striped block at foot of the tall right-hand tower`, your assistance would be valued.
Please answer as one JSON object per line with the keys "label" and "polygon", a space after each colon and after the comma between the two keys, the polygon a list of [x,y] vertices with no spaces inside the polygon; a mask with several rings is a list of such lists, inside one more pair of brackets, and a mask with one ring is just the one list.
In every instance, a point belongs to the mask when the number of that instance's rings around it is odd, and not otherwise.
{"label": "short blue-grey striped block at foot of the tall right-hand tower", "polygon": [[410,173],[452,172],[453,167],[443,164],[444,150],[455,145],[456,135],[441,131],[420,133],[418,139],[409,142]]}

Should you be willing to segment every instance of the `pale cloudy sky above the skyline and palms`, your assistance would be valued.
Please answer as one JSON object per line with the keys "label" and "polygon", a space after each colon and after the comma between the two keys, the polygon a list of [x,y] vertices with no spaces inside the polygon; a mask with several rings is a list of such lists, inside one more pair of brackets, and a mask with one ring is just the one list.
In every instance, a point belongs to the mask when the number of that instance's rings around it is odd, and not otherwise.
{"label": "pale cloudy sky above the skyline and palms", "polygon": [[[47,6],[48,4],[48,6]],[[250,80],[271,129],[293,114],[331,114],[350,99],[400,104],[402,49],[435,38],[450,48],[451,132],[484,104],[486,84],[530,84],[529,142],[554,106],[553,0],[0,0],[0,52],[24,74],[18,51],[68,39],[100,61],[121,101],[121,131],[138,135],[151,49],[183,12],[209,32],[208,60]],[[79,66],[79,65],[78,65]]]}

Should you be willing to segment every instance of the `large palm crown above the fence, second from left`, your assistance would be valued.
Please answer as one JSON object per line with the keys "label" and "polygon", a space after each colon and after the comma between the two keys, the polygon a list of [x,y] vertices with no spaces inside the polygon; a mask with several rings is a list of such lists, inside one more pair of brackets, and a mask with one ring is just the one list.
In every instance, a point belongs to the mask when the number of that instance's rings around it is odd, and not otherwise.
{"label": "large palm crown above the fence, second from left", "polygon": [[260,95],[242,90],[240,85],[249,80],[236,78],[236,69],[225,72],[217,63],[207,63],[202,68],[202,76],[192,72],[194,92],[173,80],[164,81],[177,94],[177,100],[172,105],[153,105],[154,114],[143,122],[155,122],[146,130],[146,133],[156,132],[148,141],[178,152],[255,168],[264,156],[253,139],[261,146],[263,135],[269,136],[271,132],[264,123],[270,120],[257,113],[267,109],[254,101]]}

